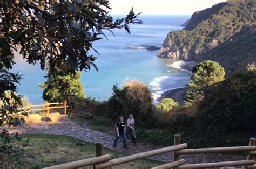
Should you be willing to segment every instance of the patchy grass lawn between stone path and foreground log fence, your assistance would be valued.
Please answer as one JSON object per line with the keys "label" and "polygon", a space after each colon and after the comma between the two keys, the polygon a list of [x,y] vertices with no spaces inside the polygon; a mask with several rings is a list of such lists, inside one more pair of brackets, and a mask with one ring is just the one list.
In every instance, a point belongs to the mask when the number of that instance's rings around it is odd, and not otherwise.
{"label": "patchy grass lawn between stone path and foreground log fence", "polygon": [[[15,141],[14,146],[22,147],[24,157],[18,161],[19,168],[42,168],[69,163],[71,161],[95,157],[95,144],[67,136],[28,134],[20,135],[22,142]],[[23,146],[29,139],[28,145]],[[104,154],[111,154],[112,158],[127,156],[110,149],[104,149]],[[142,159],[115,166],[113,168],[150,168],[162,165],[158,161]],[[92,166],[86,167],[92,168]]]}

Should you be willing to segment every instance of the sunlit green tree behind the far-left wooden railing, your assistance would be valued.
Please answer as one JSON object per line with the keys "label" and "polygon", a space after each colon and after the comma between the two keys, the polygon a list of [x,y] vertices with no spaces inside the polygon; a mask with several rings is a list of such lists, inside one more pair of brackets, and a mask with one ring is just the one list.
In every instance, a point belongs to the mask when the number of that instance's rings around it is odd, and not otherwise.
{"label": "sunlit green tree behind the far-left wooden railing", "polygon": [[[48,70],[50,72],[50,70]],[[63,75],[60,69],[55,68],[56,79],[50,73],[47,74],[47,80],[40,83],[43,88],[43,99],[49,102],[63,102],[65,98],[74,99],[74,97],[85,98],[84,87],[80,81],[81,72]],[[61,91],[61,93],[60,93]]]}

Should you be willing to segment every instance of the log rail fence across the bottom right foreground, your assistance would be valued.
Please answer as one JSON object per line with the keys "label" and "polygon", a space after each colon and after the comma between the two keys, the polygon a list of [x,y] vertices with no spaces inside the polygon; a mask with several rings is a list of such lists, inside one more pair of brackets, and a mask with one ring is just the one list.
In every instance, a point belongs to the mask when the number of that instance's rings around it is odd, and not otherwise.
{"label": "log rail fence across the bottom right foreground", "polygon": [[[161,166],[153,167],[152,169],[161,168],[211,168],[211,167],[227,167],[227,166],[245,166],[246,168],[256,168],[256,162],[253,160],[256,157],[256,146],[255,138],[250,138],[248,146],[237,146],[237,147],[212,147],[203,149],[186,149],[187,144],[181,144],[180,135],[174,136],[174,145],[142,152],[138,154],[133,154],[131,156],[121,157],[117,159],[111,159],[109,154],[104,155],[103,144],[96,144],[96,156],[90,159],[74,161],[72,163],[66,163],[58,166],[47,167],[48,169],[53,168],[77,168],[83,166],[94,165],[93,168],[106,168],[119,164],[128,163],[130,161],[156,156],[159,154],[173,152],[173,162],[164,164]],[[202,154],[202,153],[234,153],[234,152],[247,152],[247,159],[240,161],[223,161],[217,163],[201,163],[201,164],[186,164],[186,160],[179,159],[180,154]],[[107,156],[107,157],[106,157]],[[99,158],[104,157],[104,158]],[[110,157],[110,158],[109,158]]]}

